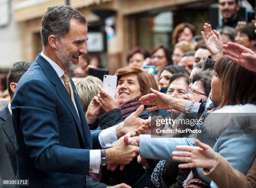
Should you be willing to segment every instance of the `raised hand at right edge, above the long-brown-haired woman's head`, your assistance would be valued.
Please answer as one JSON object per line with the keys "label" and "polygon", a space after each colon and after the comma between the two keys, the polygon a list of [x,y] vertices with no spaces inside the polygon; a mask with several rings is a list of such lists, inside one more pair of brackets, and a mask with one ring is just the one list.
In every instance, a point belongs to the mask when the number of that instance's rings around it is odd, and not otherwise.
{"label": "raised hand at right edge, above the long-brown-haired woman's head", "polygon": [[256,53],[250,48],[231,42],[224,44],[223,48],[223,53],[228,55],[229,60],[234,61],[236,64],[250,71],[256,72]]}

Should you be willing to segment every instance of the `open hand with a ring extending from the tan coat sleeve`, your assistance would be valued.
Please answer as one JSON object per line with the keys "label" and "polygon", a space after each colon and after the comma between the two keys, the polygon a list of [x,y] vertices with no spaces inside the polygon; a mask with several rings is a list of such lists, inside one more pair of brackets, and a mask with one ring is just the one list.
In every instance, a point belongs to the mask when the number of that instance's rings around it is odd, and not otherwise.
{"label": "open hand with a ring extending from the tan coat sleeve", "polygon": [[180,164],[179,168],[207,168],[211,170],[217,164],[217,153],[207,144],[196,141],[198,146],[176,146],[177,150],[172,152],[172,159],[185,162]]}

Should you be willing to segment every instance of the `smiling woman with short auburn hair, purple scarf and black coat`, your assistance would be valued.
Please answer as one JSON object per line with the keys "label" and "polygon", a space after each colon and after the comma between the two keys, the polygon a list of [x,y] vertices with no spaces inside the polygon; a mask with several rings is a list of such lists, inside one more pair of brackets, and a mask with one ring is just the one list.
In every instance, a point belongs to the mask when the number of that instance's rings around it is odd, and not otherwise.
{"label": "smiling woman with short auburn hair, purple scarf and black coat", "polygon": [[[115,97],[111,97],[100,87],[100,93],[89,104],[85,117],[91,129],[98,125],[101,129],[106,129],[123,122],[126,117],[141,106],[138,101],[141,96],[149,94],[150,88],[159,90],[154,76],[138,67],[130,66],[118,69],[116,76],[118,77],[118,86]],[[150,116],[151,112],[147,112],[145,108],[138,117],[148,119]],[[103,168],[101,175],[102,178],[99,180],[108,185],[126,183],[134,187],[138,180],[144,177],[145,170],[134,159],[130,164],[125,165],[122,171],[116,169],[111,172]],[[149,183],[149,185],[145,184],[144,187],[152,187],[150,178],[148,180],[142,180]]]}

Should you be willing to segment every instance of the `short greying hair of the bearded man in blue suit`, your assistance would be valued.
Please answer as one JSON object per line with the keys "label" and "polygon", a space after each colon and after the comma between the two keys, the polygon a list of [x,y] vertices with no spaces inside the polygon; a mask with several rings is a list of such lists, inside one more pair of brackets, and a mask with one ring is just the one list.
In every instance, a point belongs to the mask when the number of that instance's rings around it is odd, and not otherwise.
{"label": "short greying hair of the bearded man in blue suit", "polygon": [[68,5],[49,7],[42,18],[41,39],[43,46],[47,46],[50,35],[61,38],[69,32],[70,20],[77,19],[78,22],[87,25],[87,21],[78,10]]}

